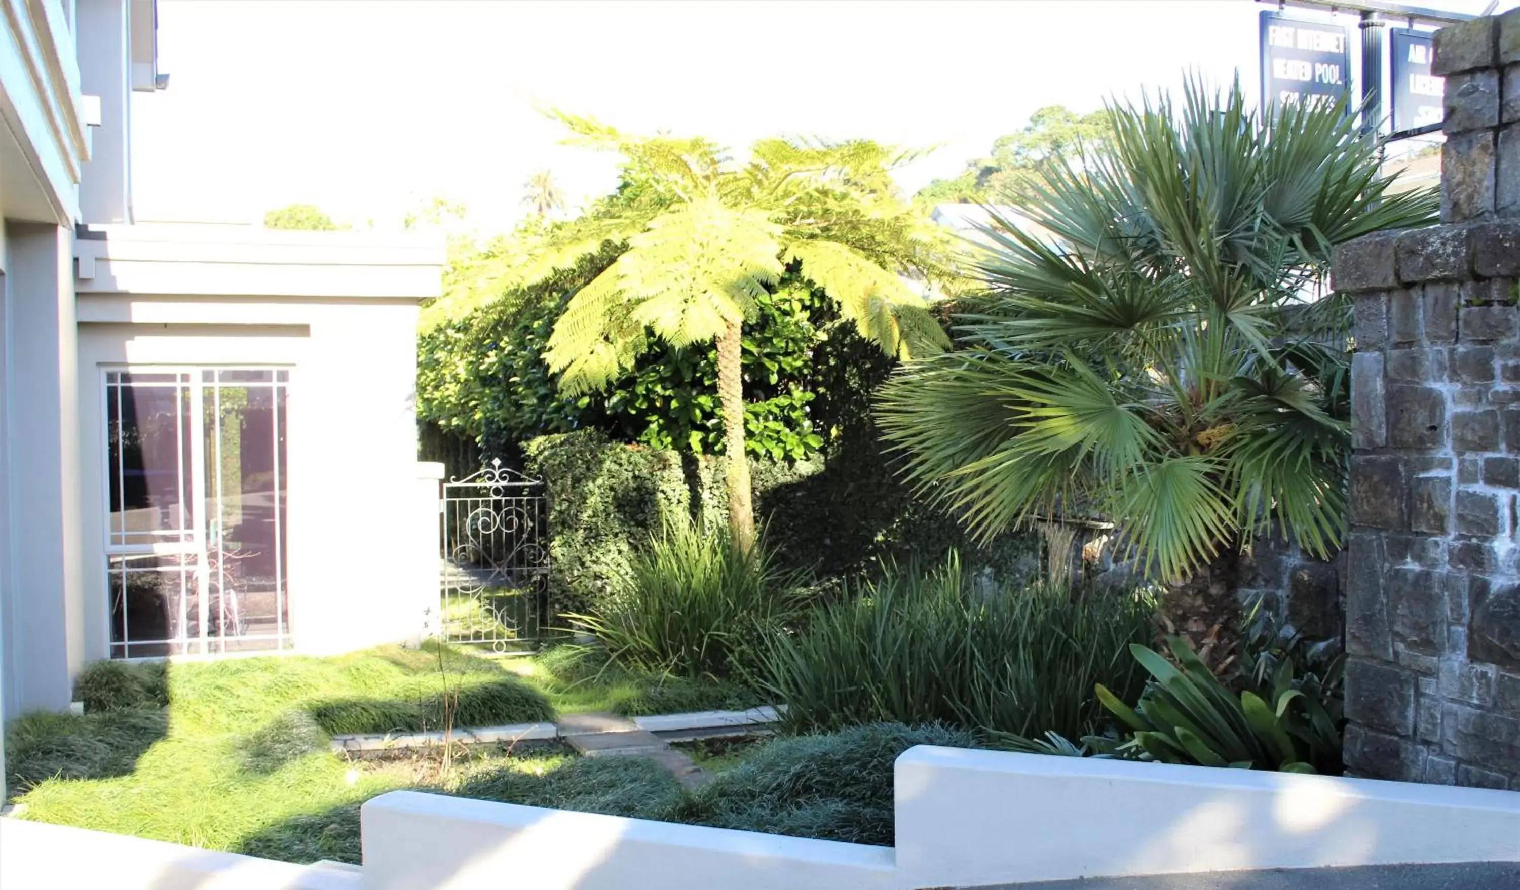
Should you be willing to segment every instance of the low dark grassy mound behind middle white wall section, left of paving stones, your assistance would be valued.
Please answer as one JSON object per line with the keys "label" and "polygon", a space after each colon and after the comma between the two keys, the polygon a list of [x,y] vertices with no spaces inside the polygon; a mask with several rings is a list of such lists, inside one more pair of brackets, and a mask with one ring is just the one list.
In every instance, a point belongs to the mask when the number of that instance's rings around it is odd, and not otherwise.
{"label": "low dark grassy mound behind middle white wall section, left of paving stones", "polygon": [[467,779],[456,794],[657,820],[669,820],[684,800],[675,776],[646,758],[579,758],[543,775],[508,765]]}

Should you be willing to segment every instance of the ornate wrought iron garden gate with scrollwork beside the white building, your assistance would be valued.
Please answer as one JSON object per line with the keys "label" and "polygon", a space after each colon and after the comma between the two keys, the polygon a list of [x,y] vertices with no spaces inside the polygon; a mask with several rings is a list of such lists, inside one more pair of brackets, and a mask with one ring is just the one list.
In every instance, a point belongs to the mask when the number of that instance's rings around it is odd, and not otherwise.
{"label": "ornate wrought iron garden gate with scrollwork beside the white building", "polygon": [[538,641],[549,594],[544,483],[502,466],[444,483],[442,633],[497,652]]}

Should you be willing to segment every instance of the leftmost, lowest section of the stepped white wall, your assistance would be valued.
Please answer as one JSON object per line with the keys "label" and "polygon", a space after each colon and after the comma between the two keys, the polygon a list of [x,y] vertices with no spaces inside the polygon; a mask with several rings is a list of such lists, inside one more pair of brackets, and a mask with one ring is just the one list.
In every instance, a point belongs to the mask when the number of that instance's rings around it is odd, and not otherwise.
{"label": "leftmost, lowest section of the stepped white wall", "polygon": [[295,866],[82,828],[0,819],[0,887],[362,890],[357,870]]}

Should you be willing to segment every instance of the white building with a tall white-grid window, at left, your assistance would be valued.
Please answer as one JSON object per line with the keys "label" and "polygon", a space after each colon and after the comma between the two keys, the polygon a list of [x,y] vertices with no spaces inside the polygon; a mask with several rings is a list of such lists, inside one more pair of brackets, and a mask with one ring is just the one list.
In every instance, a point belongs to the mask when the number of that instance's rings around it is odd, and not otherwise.
{"label": "white building with a tall white-grid window, at left", "polygon": [[8,717],[94,659],[415,639],[436,604],[413,384],[442,248],[132,225],[154,18],[0,0]]}

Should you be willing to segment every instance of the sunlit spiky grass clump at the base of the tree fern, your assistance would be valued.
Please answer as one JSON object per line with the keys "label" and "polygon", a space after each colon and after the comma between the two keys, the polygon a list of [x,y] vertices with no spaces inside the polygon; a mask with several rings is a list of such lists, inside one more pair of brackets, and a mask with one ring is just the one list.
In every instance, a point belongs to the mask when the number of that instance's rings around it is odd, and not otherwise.
{"label": "sunlit spiky grass clump at the base of the tree fern", "polygon": [[667,521],[631,568],[628,592],[572,618],[634,670],[727,676],[796,611],[801,579],[777,570],[763,542],[737,551],[722,527]]}

